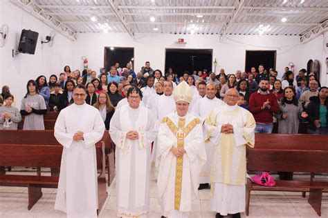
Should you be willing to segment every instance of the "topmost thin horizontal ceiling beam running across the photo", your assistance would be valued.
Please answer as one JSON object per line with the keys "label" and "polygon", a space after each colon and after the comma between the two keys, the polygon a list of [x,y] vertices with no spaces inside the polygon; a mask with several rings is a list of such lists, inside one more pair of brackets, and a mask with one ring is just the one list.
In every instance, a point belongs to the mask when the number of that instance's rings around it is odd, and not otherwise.
{"label": "topmost thin horizontal ceiling beam running across the photo", "polygon": [[[71,8],[71,9],[104,9],[111,8],[110,6],[65,6],[65,5],[40,5],[42,8]],[[233,10],[234,6],[118,6],[118,9],[227,9]],[[316,10],[316,11],[328,11],[325,7],[269,7],[269,6],[244,6],[244,10]]]}

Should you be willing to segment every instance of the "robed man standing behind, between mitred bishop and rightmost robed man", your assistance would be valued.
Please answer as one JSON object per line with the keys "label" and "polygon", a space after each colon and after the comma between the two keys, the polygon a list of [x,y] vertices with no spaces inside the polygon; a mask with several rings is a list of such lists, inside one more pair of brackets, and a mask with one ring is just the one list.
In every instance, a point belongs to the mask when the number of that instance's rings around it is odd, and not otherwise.
{"label": "robed man standing behind, between mitred bishop and rightmost robed man", "polygon": [[[213,108],[217,108],[218,106],[224,105],[224,101],[221,101],[215,94],[217,93],[217,89],[215,88],[215,83],[208,83],[206,85],[206,95],[202,99],[199,99],[194,104],[192,108],[192,113],[199,117],[201,123],[206,119],[206,117],[210,114]],[[205,126],[203,125],[203,139],[206,137]],[[201,169],[199,174],[199,190],[203,188],[208,188],[210,183],[210,168],[212,166],[212,155],[213,155],[213,143],[211,141],[207,141],[204,143],[206,150],[207,161],[206,164]]]}

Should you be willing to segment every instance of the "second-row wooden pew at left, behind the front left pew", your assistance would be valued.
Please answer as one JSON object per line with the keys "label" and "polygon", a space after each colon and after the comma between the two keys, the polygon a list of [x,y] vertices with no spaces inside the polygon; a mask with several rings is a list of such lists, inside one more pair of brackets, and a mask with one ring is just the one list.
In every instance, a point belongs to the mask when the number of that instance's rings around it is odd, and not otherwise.
{"label": "second-row wooden pew at left, behind the front left pew", "polygon": [[[61,146],[54,136],[53,130],[0,130],[0,143],[2,144],[28,144],[28,145],[54,145]],[[105,161],[108,166],[108,185],[110,186],[115,176],[114,150],[115,145],[111,141],[109,132],[106,130],[102,139],[96,143],[96,146],[104,144]],[[1,165],[0,165],[1,166]],[[3,172],[3,168],[0,168]],[[53,175],[58,175],[59,171],[51,169]]]}

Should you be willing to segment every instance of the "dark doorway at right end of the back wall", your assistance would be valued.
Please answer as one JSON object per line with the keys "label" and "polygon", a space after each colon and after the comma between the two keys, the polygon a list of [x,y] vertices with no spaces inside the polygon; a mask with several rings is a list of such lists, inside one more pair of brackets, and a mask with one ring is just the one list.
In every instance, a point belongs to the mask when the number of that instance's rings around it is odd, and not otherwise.
{"label": "dark doorway at right end of the back wall", "polygon": [[259,64],[264,65],[264,69],[275,69],[275,50],[246,50],[245,72],[250,72],[250,68],[259,70]]}

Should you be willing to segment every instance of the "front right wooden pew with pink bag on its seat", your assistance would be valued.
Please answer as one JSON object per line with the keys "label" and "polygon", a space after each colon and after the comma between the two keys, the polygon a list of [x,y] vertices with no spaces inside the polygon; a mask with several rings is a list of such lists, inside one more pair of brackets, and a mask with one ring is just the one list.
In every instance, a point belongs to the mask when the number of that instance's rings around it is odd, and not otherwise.
{"label": "front right wooden pew with pink bag on its seat", "polygon": [[[248,171],[328,172],[328,135],[255,135],[255,148],[247,148]],[[248,179],[246,215],[249,213],[251,190],[309,191],[309,204],[321,215],[322,191],[327,181],[277,180],[275,186],[259,186]]]}

